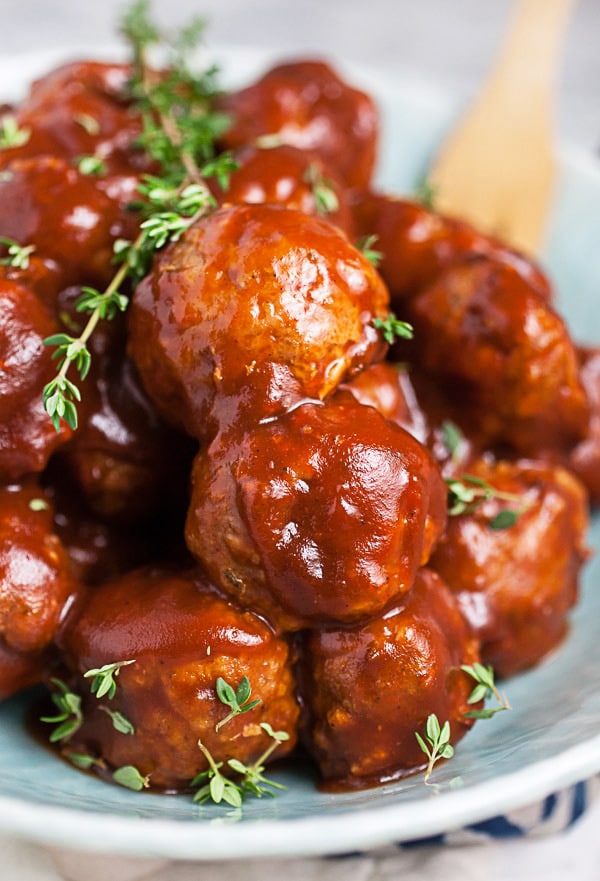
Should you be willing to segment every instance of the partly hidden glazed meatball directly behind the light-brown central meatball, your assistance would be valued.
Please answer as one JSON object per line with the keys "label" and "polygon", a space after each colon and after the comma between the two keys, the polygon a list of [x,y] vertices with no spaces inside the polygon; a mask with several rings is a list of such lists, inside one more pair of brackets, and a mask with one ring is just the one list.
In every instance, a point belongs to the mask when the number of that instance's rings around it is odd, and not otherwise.
{"label": "partly hidden glazed meatball directly behind the light-brown central meatball", "polygon": [[337,172],[308,150],[281,145],[249,146],[235,154],[238,165],[228,186],[215,185],[220,203],[282,203],[305,214],[325,217],[352,234],[352,216],[345,185]]}

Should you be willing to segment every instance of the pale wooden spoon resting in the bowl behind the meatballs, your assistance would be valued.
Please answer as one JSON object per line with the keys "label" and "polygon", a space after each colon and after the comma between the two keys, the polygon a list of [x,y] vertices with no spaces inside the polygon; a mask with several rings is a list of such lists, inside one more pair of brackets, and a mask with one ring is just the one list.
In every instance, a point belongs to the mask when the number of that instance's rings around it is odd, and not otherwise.
{"label": "pale wooden spoon resting in the bowl behind the meatballs", "polygon": [[575,0],[517,0],[498,59],[430,174],[436,209],[534,254],[555,176],[552,111]]}

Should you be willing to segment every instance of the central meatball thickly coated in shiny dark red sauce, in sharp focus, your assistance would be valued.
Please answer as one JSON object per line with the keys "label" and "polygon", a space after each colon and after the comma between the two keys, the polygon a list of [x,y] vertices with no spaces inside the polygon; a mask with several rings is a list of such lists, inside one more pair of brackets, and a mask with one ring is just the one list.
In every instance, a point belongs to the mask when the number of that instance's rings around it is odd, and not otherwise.
{"label": "central meatball thickly coated in shiny dark red sauce, in sharp focus", "polygon": [[189,549],[289,630],[378,614],[409,590],[446,517],[429,453],[347,392],[220,435],[192,484]]}

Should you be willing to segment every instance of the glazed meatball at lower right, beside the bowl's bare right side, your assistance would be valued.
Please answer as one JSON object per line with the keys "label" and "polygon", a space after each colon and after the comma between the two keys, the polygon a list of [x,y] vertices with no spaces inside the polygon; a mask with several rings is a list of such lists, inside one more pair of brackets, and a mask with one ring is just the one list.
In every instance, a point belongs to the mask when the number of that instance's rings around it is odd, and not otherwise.
{"label": "glazed meatball at lower right, beside the bowl's bare right side", "polygon": [[[568,471],[531,462],[480,462],[472,474],[514,501],[492,498],[452,516],[430,560],[456,594],[500,676],[538,663],[563,638],[587,558],[585,490]],[[516,523],[492,528],[502,510]]]}

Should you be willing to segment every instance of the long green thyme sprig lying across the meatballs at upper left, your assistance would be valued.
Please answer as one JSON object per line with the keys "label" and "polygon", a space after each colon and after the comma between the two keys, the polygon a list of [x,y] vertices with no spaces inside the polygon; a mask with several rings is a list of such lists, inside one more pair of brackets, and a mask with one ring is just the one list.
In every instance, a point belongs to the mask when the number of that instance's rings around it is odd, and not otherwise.
{"label": "long green thyme sprig lying across the meatballs at upper left", "polygon": [[[216,69],[211,67],[197,76],[189,64],[202,23],[194,21],[167,40],[169,68],[158,74],[147,63],[147,52],[150,46],[162,44],[165,37],[150,20],[148,9],[144,0],[134,3],[125,14],[122,32],[133,55],[128,97],[142,120],[138,146],[155,161],[160,175],[141,179],[142,201],[135,205],[143,218],[140,230],[134,241],[115,241],[113,255],[118,269],[112,280],[104,291],[83,289],[76,308],[89,313],[89,318],[81,333],[54,334],[44,341],[56,346],[52,357],[57,360],[58,372],[44,387],[42,401],[57,431],[63,421],[71,429],[77,428],[81,392],[68,374],[75,370],[81,381],[87,376],[91,365],[88,342],[98,322],[114,318],[128,306],[129,297],[121,290],[123,284],[139,282],[149,271],[156,251],[177,241],[216,206],[205,178],[214,175],[221,186],[226,186],[234,167],[229,155],[215,155],[215,141],[229,124],[225,116],[212,110],[217,92]],[[10,127],[6,118],[4,124]],[[83,158],[87,173],[101,170],[91,161],[94,157]]]}

